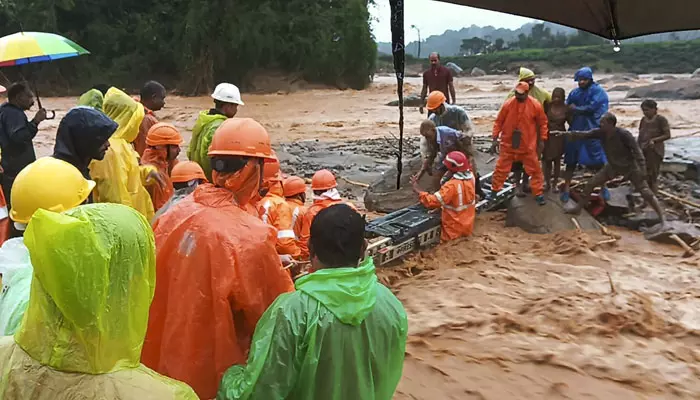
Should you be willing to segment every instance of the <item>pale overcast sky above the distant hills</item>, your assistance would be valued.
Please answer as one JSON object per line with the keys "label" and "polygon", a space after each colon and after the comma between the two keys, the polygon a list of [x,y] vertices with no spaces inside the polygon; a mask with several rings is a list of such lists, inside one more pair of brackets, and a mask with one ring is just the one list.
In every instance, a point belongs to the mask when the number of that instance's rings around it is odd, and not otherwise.
{"label": "pale overcast sky above the distant hills", "polygon": [[[370,7],[374,20],[372,23],[374,36],[379,42],[391,42],[389,0],[377,0],[376,3],[377,5]],[[530,21],[532,19],[433,0],[405,0],[404,2],[407,44],[418,40],[415,29],[409,28],[411,25],[416,25],[420,29],[421,37],[425,39],[430,35],[440,35],[448,29],[459,30],[471,25],[492,25],[497,28],[515,29]]]}

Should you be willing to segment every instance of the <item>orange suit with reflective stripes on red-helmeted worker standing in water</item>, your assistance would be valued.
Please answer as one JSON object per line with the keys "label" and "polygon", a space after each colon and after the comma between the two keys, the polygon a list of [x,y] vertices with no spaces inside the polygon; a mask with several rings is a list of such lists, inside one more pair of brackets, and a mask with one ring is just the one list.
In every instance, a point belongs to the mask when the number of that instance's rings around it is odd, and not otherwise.
{"label": "orange suit with reflective stripes on red-helmeted worker standing in water", "polygon": [[434,194],[422,192],[420,202],[428,208],[442,208],[443,242],[471,236],[476,218],[476,181],[471,172],[457,172]]}

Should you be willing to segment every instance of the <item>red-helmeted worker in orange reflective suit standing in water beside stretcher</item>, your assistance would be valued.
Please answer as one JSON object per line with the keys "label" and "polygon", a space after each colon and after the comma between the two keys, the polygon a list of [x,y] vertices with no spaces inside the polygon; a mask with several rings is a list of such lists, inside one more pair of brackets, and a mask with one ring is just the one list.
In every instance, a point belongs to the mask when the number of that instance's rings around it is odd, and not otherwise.
{"label": "red-helmeted worker in orange reflective suit standing in water beside stretcher", "polygon": [[451,176],[439,191],[433,194],[424,192],[418,185],[417,177],[414,177],[411,183],[421,204],[427,208],[442,209],[440,240],[447,242],[471,236],[474,231],[476,179],[471,172],[469,159],[459,151],[447,154],[443,164],[450,171]]}

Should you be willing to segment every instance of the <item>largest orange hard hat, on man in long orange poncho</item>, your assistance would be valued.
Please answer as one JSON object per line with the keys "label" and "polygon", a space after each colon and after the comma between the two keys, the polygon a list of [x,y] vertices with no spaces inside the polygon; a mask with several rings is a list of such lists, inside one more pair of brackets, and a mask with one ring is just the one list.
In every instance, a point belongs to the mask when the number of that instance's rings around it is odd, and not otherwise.
{"label": "largest orange hard hat, on man in long orange poncho", "polygon": [[274,159],[267,130],[252,118],[229,118],[214,132],[209,146],[212,156]]}

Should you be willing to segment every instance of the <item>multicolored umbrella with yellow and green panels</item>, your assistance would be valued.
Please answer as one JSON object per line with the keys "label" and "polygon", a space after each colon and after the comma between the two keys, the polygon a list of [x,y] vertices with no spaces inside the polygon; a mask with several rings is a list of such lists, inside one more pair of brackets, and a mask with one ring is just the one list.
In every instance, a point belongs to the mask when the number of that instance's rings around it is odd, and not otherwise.
{"label": "multicolored umbrella with yellow and green panels", "polygon": [[0,67],[60,60],[90,54],[61,35],[19,32],[0,38]]}

